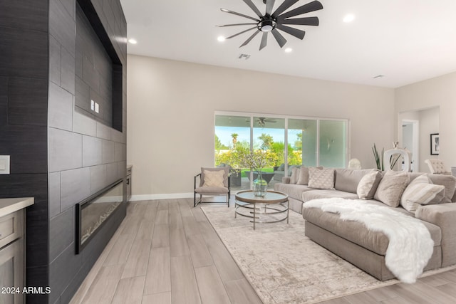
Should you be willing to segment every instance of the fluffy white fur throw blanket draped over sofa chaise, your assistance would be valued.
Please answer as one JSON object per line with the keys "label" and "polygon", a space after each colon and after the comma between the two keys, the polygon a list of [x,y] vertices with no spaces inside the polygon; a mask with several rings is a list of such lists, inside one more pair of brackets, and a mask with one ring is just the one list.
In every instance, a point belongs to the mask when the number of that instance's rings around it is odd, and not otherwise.
{"label": "fluffy white fur throw blanket draped over sofa chaise", "polygon": [[340,214],[343,221],[358,221],[388,236],[385,264],[401,282],[415,283],[432,256],[434,241],[426,226],[412,216],[361,199],[314,199],[304,204],[304,208],[312,207]]}

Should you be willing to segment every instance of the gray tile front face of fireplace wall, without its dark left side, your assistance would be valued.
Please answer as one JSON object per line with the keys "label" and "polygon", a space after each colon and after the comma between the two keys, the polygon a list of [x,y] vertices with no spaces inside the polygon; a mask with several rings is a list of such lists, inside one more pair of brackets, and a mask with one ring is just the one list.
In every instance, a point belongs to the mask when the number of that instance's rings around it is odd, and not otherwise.
{"label": "gray tile front face of fireplace wall, without its dark left side", "polygon": [[[75,205],[125,177],[126,167],[127,28],[123,11],[119,0],[78,0],[78,4],[84,12],[95,11],[101,24],[89,23],[81,9],[76,10],[76,0],[49,1],[49,303],[68,303],[125,216],[123,206],[75,254]],[[92,29],[90,24],[103,26],[123,66],[123,81],[116,88],[123,96],[123,132],[109,126],[112,70],[103,43],[95,35],[103,28]],[[87,89],[88,98],[78,94],[81,86]],[[99,101],[100,116],[89,116],[90,99]],[[81,110],[83,106],[86,108]]]}

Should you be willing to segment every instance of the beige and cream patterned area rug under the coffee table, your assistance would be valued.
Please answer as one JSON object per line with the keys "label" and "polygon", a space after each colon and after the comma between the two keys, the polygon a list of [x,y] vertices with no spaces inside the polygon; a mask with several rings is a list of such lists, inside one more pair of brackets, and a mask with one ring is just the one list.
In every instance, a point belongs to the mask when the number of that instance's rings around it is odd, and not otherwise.
{"label": "beige and cream patterned area rug under the coffee table", "polygon": [[202,206],[263,303],[317,303],[398,283],[378,281],[304,236],[304,219],[257,224],[226,206]]}

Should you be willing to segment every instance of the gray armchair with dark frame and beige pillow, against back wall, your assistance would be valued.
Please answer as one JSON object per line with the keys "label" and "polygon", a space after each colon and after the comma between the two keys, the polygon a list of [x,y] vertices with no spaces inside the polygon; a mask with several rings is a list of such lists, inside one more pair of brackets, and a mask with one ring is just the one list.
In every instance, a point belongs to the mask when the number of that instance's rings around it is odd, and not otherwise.
{"label": "gray armchair with dark frame and beige pillow, against back wall", "polygon": [[[199,183],[197,183],[199,179]],[[201,173],[195,175],[195,207],[200,203],[219,203],[219,201],[202,201],[202,196],[226,196],[222,201],[229,206],[229,167],[201,168]],[[199,199],[197,201],[197,194]]]}

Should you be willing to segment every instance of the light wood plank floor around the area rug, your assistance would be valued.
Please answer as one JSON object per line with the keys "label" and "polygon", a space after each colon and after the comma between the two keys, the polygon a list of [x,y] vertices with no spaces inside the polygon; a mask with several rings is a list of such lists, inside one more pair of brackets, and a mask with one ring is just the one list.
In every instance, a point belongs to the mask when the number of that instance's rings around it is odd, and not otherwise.
{"label": "light wood plank floor around the area rug", "polygon": [[[261,303],[192,199],[136,201],[76,295],[78,303]],[[326,304],[456,303],[456,270]]]}

